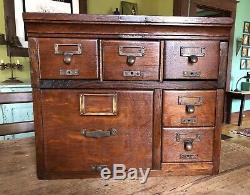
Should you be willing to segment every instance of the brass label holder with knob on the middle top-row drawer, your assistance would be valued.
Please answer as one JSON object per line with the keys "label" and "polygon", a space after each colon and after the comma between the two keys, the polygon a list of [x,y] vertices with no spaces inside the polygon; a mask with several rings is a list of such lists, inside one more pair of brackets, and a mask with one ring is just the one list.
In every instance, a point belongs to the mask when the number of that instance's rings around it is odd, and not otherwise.
{"label": "brass label holder with knob on the middle top-row drawer", "polygon": [[136,57],[145,55],[145,47],[142,46],[119,46],[119,55],[127,56],[127,65],[133,66]]}

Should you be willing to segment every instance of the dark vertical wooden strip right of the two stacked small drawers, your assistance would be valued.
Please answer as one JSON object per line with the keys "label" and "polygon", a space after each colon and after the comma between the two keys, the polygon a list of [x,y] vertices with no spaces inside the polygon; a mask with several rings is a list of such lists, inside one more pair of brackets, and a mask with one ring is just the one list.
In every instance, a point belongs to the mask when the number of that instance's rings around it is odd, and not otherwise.
{"label": "dark vertical wooden strip right of the two stacked small drawers", "polygon": [[221,152],[221,130],[223,124],[223,106],[224,106],[224,90],[217,90],[216,101],[216,125],[214,131],[214,143],[213,143],[213,174],[219,173],[220,166],[220,152]]}

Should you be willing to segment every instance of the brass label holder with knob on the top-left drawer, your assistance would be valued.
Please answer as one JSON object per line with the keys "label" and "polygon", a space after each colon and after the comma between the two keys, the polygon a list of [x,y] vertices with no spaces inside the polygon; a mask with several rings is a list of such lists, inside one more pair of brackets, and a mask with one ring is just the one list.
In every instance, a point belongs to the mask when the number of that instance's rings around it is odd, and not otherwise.
{"label": "brass label holder with knob on the top-left drawer", "polygon": [[[75,51],[61,51],[60,47],[77,47]],[[82,45],[81,44],[55,44],[55,54],[63,55],[63,62],[69,65],[72,61],[73,55],[81,55],[82,54]]]}

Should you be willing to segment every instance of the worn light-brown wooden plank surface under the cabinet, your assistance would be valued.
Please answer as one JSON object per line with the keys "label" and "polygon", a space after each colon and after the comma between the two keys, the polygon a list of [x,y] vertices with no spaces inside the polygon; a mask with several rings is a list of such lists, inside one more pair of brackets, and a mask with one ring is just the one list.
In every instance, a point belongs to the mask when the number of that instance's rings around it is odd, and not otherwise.
{"label": "worn light-brown wooden plank surface under the cabinet", "polygon": [[[243,124],[250,127],[250,121]],[[250,194],[250,138],[223,132],[233,138],[222,141],[220,174],[216,176],[152,177],[139,181],[50,180],[40,181],[35,173],[34,139],[0,142],[0,195],[50,194]]]}

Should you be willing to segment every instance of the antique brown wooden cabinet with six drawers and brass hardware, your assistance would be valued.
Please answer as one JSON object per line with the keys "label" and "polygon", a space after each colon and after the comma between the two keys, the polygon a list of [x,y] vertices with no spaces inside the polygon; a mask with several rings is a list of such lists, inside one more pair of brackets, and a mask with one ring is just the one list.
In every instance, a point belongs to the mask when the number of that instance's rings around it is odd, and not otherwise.
{"label": "antique brown wooden cabinet with six drawers and brass hardware", "polygon": [[37,173],[216,174],[230,18],[24,14]]}

